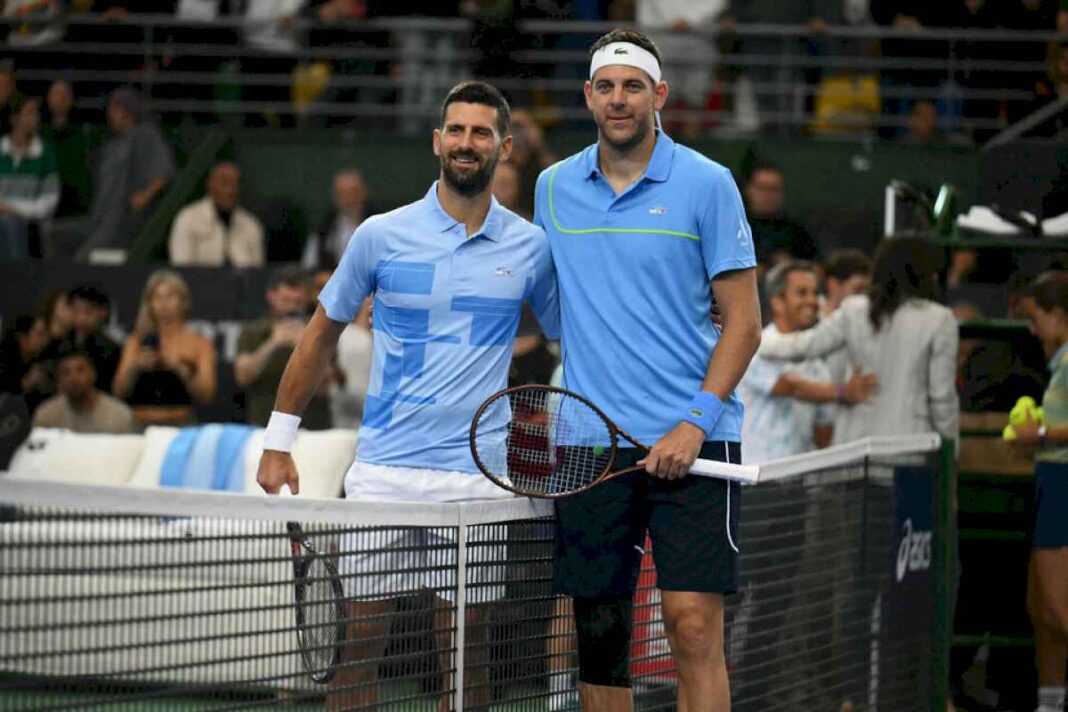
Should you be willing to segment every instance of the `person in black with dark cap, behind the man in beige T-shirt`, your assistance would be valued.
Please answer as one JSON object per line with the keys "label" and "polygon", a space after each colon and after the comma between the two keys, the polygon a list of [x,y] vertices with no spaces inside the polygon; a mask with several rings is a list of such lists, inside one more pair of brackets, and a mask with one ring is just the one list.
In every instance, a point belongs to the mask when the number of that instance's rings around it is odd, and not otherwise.
{"label": "person in black with dark cap, behind the man in beige T-shirt", "polygon": [[58,364],[64,352],[83,351],[93,362],[97,387],[110,390],[122,350],[104,333],[111,316],[111,299],[95,284],[80,284],[66,294],[66,301],[70,308],[70,332],[66,337],[53,339],[42,358]]}

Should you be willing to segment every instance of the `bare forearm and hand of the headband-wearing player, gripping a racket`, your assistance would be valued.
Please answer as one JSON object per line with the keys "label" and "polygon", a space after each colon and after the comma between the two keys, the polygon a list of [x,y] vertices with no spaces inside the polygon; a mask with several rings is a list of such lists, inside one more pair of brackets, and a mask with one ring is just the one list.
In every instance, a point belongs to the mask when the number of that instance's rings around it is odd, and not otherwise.
{"label": "bare forearm and hand of the headband-wearing player, gripping a racket", "polygon": [[[760,345],[756,270],[723,272],[712,280],[712,291],[723,312],[723,333],[708,360],[701,390],[722,404],[738,386]],[[706,437],[701,427],[680,422],[649,448],[644,460],[645,471],[666,479],[685,477],[697,459]]]}

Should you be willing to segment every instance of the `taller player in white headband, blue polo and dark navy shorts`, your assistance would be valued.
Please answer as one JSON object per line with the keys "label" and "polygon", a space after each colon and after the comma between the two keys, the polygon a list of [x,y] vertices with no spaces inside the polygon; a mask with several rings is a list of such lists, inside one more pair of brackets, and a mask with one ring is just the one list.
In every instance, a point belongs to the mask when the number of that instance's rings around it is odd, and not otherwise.
{"label": "taller player in white headband, blue polo and dark navy shorts", "polygon": [[575,597],[583,709],[632,709],[630,606],[648,531],[679,709],[722,712],[738,485],[687,473],[698,454],[740,461],[734,392],[760,339],[752,234],[729,171],[657,129],[668,84],[656,46],[613,30],[591,57],[597,143],[541,173],[535,223],[556,267],[563,386],[655,444],[648,474],[556,503],[555,585]]}

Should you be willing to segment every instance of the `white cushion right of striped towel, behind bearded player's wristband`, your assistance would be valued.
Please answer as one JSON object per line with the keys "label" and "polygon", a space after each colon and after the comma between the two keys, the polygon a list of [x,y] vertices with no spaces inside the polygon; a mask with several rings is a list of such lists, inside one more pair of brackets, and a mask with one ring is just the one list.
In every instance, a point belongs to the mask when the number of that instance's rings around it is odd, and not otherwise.
{"label": "white cushion right of striped towel, behind bearded player's wristband", "polygon": [[[300,430],[293,446],[293,459],[300,475],[300,495],[333,499],[341,493],[348,466],[356,459],[357,436],[354,430]],[[264,431],[257,429],[245,448],[245,491],[262,494],[256,482],[260,455],[264,447]],[[289,493],[283,487],[283,495]]]}

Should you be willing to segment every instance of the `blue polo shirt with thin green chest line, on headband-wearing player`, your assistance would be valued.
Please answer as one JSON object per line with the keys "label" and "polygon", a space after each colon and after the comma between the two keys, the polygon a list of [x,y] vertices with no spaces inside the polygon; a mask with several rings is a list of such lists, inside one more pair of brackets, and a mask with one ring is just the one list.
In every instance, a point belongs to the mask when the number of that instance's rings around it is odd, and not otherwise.
{"label": "blue polo shirt with thin green chest line, on headband-wearing player", "polygon": [[[756,266],[731,172],[659,132],[645,174],[617,195],[594,144],[541,173],[534,222],[556,267],[563,386],[653,444],[686,413],[719,341],[711,280]],[[709,439],[739,441],[741,400],[724,406]]]}

